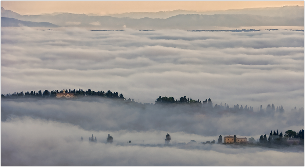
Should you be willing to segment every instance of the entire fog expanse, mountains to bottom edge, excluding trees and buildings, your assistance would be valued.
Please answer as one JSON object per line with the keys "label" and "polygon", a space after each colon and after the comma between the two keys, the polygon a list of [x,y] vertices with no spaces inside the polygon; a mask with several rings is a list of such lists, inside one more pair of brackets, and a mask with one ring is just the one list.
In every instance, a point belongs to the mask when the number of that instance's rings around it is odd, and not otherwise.
{"label": "entire fog expanse, mountains to bottom edge, excluding trees and buildings", "polygon": [[[70,88],[111,90],[137,103],[2,97],[2,166],[304,165],[300,145],[201,143],[304,129],[302,31],[1,28],[1,94]],[[254,112],[154,105],[159,96],[211,98],[213,105]],[[285,111],[267,113],[268,104]],[[89,142],[92,134],[96,143]]]}

